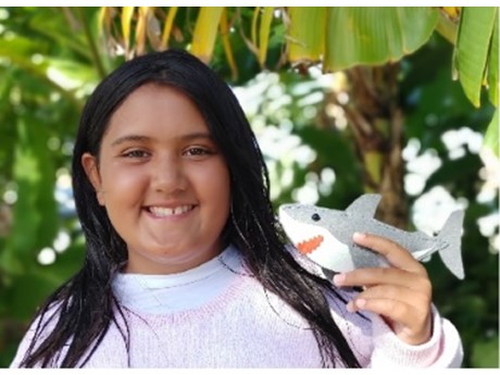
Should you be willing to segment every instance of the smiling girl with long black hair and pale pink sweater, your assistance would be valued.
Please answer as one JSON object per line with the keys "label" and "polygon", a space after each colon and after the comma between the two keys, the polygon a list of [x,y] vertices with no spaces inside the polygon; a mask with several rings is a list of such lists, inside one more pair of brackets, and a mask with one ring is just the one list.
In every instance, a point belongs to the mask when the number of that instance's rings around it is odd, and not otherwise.
{"label": "smiling girl with long black hair and pale pink sweater", "polygon": [[73,188],[84,265],[12,367],[461,364],[425,268],[397,243],[358,234],[392,267],[334,280],[286,247],[239,103],[187,52],[137,58],[97,87]]}

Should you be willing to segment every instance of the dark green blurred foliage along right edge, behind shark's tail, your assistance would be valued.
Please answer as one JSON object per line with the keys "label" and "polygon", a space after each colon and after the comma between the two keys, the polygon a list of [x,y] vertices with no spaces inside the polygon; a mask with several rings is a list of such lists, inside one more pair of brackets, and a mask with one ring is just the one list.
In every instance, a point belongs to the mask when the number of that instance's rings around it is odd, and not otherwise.
{"label": "dark green blurred foliage along right edge, behind shark's tail", "polygon": [[[433,259],[428,264],[434,285],[434,301],[440,312],[459,328],[464,343],[464,366],[498,366],[498,249],[480,234],[478,220],[498,214],[498,188],[491,200],[478,198],[483,182],[478,176],[483,160],[466,140],[458,146],[463,152],[453,157],[453,149],[445,146],[447,132],[471,128],[484,134],[495,108],[485,99],[475,110],[458,83],[447,83],[450,65],[429,61],[433,55],[447,55],[450,47],[440,38],[432,41],[409,59],[408,80],[402,84],[407,100],[407,136],[421,141],[421,151],[433,150],[442,161],[427,179],[424,193],[437,186],[445,187],[452,197],[467,202],[462,238],[465,280],[443,273],[442,262]],[[433,64],[434,74],[425,67]],[[414,85],[415,82],[420,85]],[[407,86],[408,85],[408,86]],[[498,234],[498,226],[496,233]],[[478,350],[485,349],[483,353]],[[484,355],[484,357],[483,357]]]}

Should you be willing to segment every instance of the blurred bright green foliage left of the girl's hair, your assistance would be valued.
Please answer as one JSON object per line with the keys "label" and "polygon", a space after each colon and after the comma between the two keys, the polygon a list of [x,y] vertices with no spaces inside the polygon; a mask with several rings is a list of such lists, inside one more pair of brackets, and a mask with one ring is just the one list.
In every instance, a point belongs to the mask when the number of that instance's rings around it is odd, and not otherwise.
{"label": "blurred bright green foliage left of the girl's hair", "polygon": [[[77,21],[97,11],[0,9],[0,197],[11,197],[0,201],[8,213],[0,216],[0,366],[36,308],[82,264],[75,218],[54,193],[58,178],[67,179],[79,113],[99,79]],[[57,245],[61,233],[70,243]],[[55,258],[50,265],[38,261],[43,248]]]}

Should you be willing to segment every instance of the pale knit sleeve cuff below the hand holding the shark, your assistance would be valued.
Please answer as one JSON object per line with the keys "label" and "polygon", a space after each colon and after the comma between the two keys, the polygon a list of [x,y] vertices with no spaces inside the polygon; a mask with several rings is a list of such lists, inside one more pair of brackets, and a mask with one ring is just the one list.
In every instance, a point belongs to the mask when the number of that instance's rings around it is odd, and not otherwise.
{"label": "pale knit sleeve cuff below the hand holding the shark", "polygon": [[463,348],[457,328],[432,308],[434,330],[422,345],[401,341],[384,320],[372,314],[373,352],[370,367],[460,367]]}

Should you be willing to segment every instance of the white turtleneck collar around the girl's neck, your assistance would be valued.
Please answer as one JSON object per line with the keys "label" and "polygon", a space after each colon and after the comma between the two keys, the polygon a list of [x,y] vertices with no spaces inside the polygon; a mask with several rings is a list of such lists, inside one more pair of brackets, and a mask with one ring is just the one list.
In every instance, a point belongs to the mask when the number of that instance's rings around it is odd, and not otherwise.
{"label": "white turtleneck collar around the girl's neck", "polygon": [[138,313],[171,313],[198,308],[222,293],[241,271],[241,255],[229,246],[195,268],[170,275],[117,274],[120,303]]}

